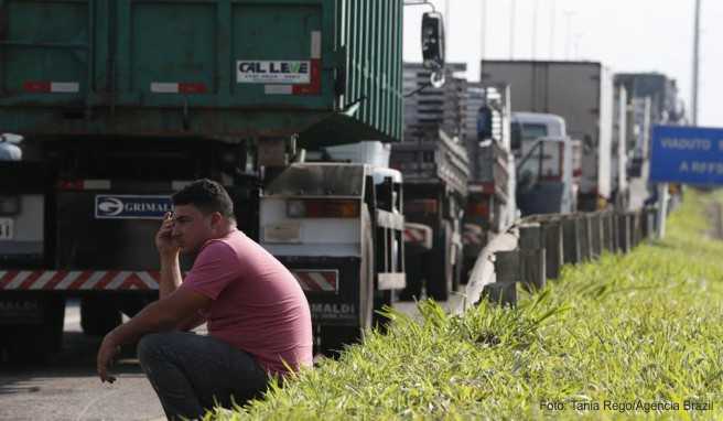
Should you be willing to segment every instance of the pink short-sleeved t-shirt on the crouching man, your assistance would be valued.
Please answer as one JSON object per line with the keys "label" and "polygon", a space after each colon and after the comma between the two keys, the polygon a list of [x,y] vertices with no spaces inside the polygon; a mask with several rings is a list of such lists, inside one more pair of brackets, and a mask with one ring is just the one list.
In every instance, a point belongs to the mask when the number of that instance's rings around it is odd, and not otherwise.
{"label": "pink short-sleeved t-shirt on the crouching man", "polygon": [[296,279],[244,233],[206,241],[181,288],[213,300],[208,332],[253,355],[268,373],[312,365],[309,302]]}

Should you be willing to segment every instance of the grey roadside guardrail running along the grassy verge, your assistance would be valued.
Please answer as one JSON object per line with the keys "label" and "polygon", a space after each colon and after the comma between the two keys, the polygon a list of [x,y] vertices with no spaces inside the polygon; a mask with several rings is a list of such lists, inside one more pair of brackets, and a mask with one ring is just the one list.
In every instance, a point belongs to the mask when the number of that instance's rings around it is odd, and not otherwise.
{"label": "grey roadside guardrail running along the grassy verge", "polygon": [[461,314],[485,298],[515,305],[517,283],[529,291],[539,290],[560,277],[563,265],[594,261],[603,252],[627,253],[656,236],[658,218],[656,207],[522,218],[483,249],[463,300],[451,312]]}

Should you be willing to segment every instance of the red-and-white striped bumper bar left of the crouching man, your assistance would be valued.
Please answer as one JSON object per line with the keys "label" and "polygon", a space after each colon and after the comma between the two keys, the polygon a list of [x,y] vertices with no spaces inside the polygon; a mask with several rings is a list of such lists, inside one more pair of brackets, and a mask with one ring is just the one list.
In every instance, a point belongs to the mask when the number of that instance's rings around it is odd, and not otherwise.
{"label": "red-and-white striped bumper bar left of the crouching man", "polygon": [[0,291],[151,291],[159,289],[158,271],[0,271]]}

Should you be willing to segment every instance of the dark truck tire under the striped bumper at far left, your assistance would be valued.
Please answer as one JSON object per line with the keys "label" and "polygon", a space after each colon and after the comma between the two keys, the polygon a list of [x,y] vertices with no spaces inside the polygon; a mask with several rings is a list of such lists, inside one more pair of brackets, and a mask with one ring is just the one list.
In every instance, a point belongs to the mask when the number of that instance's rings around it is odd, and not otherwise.
{"label": "dark truck tire under the striped bumper at far left", "polygon": [[51,354],[63,346],[65,299],[42,299],[43,321],[41,325],[9,326],[8,357],[21,364],[44,364]]}

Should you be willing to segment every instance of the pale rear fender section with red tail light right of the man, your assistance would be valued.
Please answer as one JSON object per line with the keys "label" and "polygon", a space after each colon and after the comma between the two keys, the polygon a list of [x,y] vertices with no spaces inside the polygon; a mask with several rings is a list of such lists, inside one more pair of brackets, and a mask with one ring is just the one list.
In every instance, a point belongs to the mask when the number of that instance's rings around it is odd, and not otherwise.
{"label": "pale rear fender section with red tail light right of the man", "polygon": [[[338,161],[353,160],[349,147],[335,148]],[[299,280],[325,354],[380,323],[375,310],[406,287],[401,174],[378,165],[384,158],[354,160],[294,163],[260,197],[259,242]]]}

